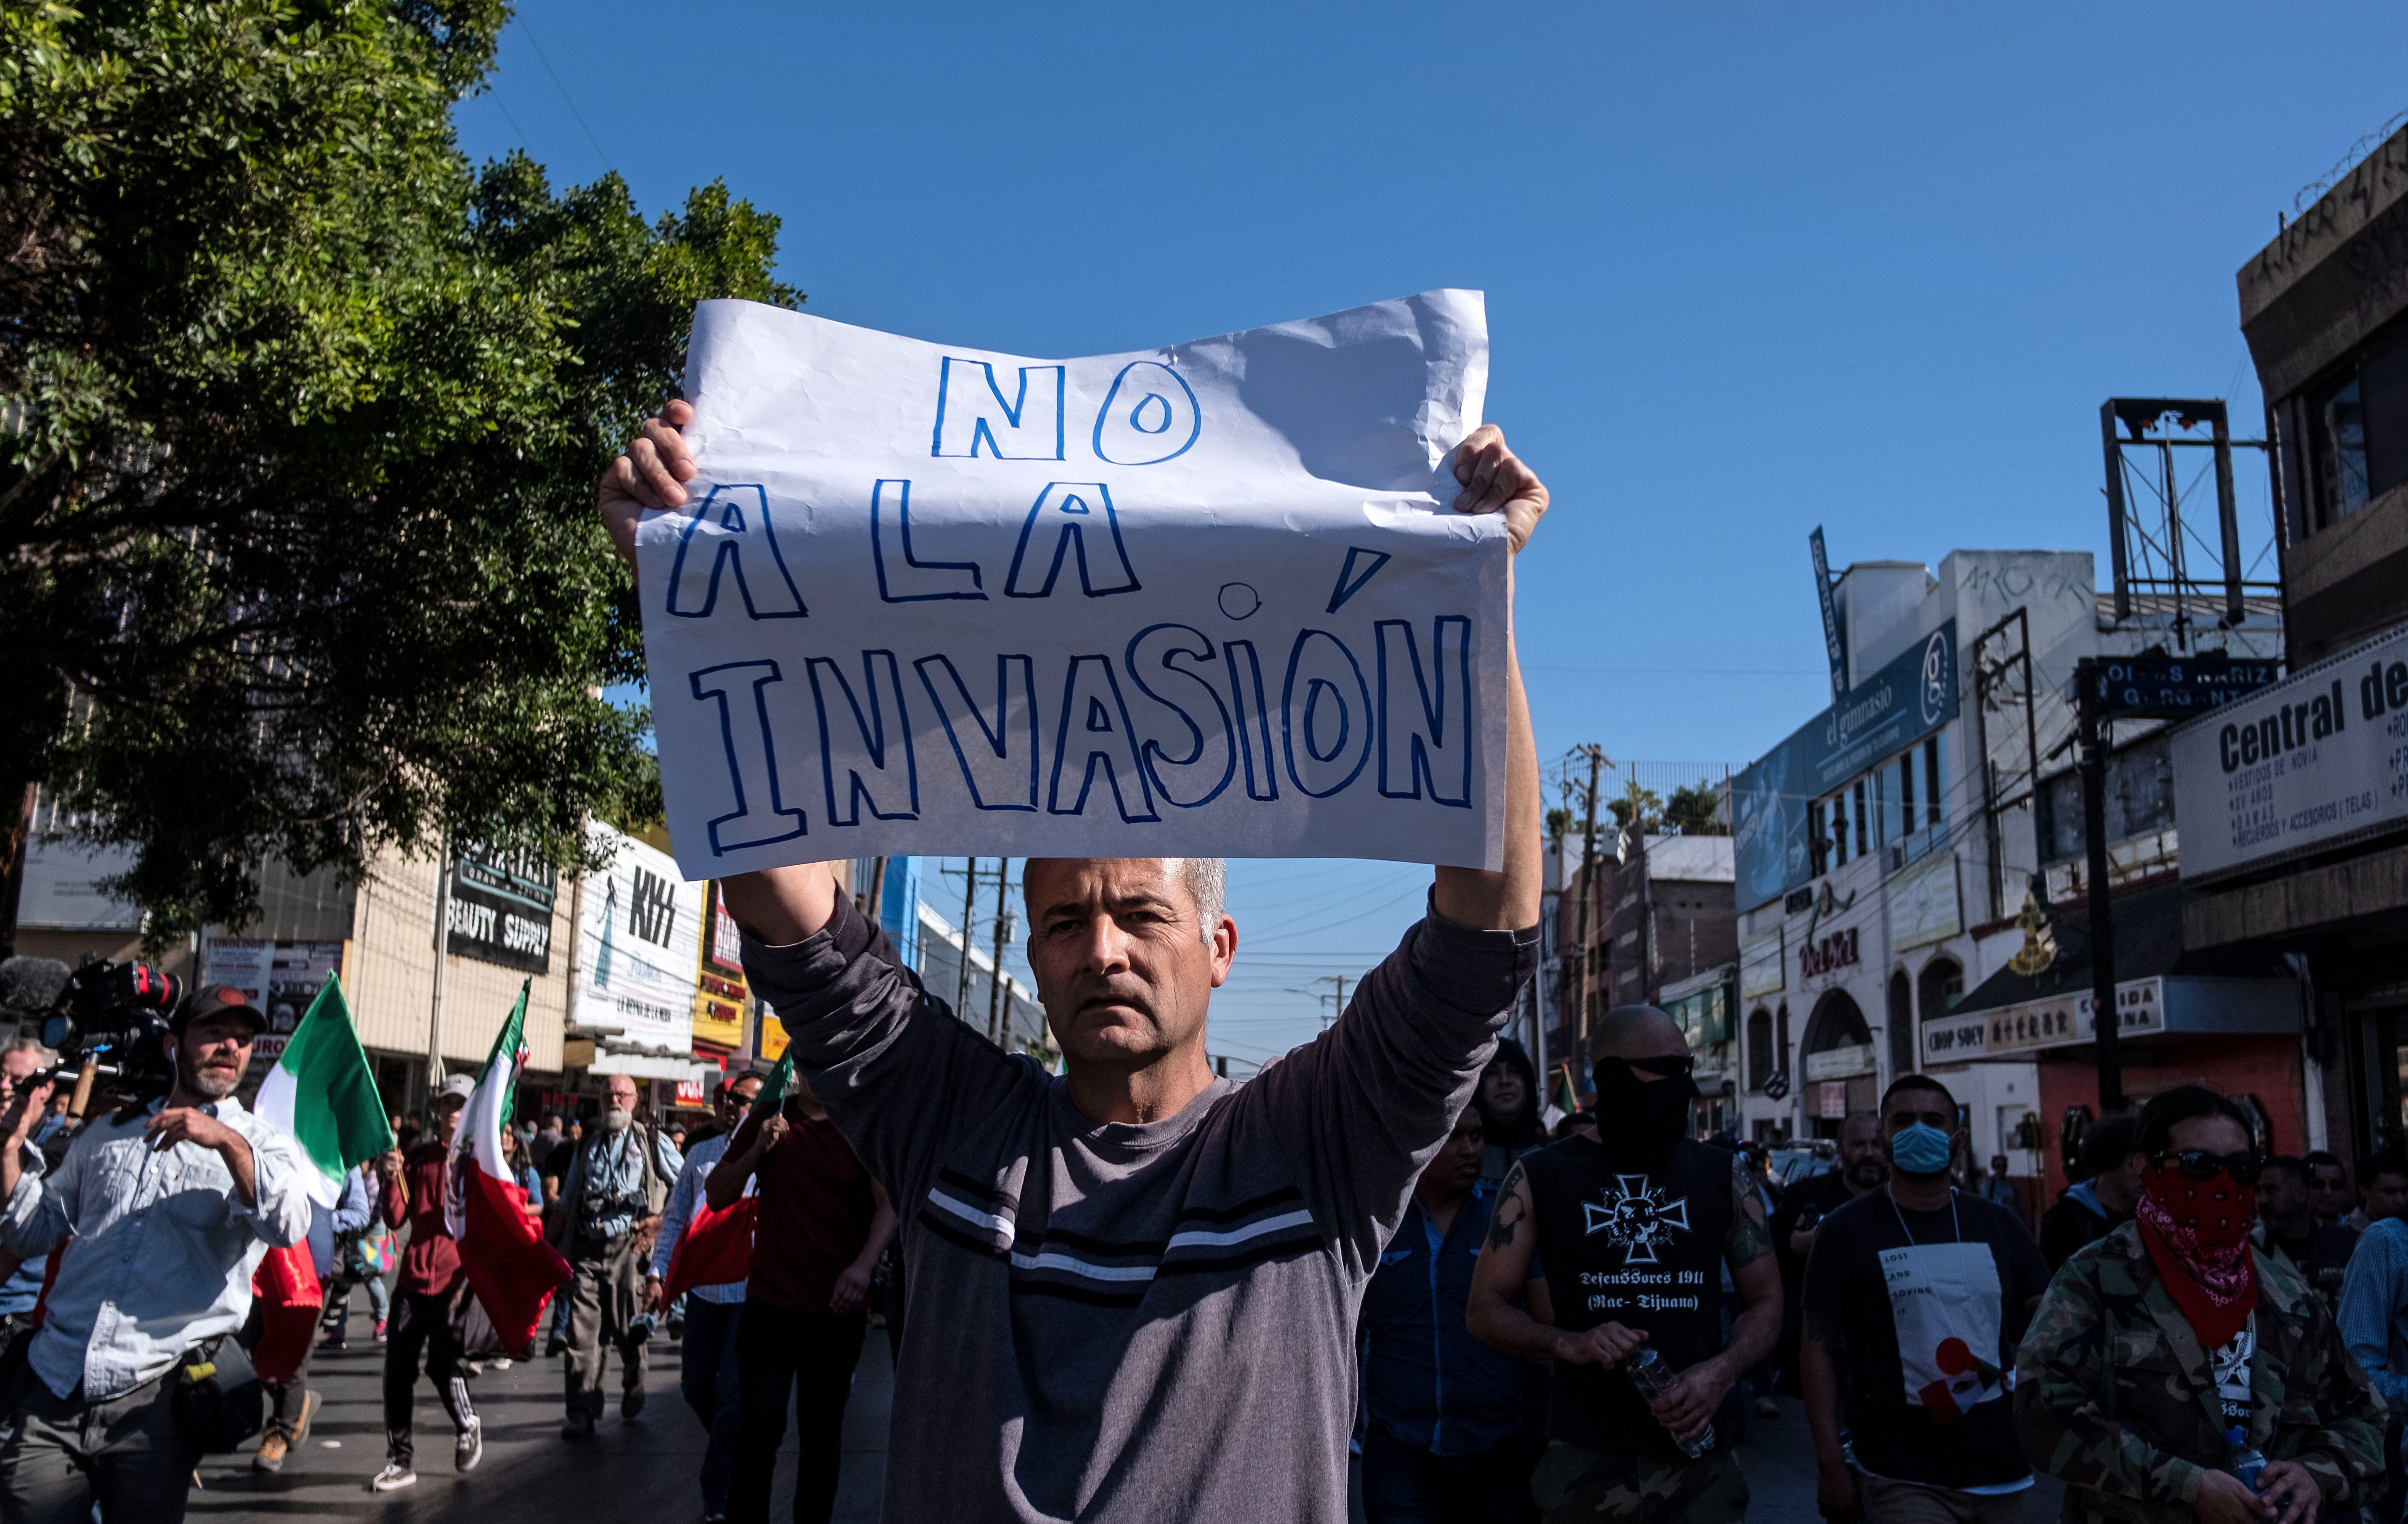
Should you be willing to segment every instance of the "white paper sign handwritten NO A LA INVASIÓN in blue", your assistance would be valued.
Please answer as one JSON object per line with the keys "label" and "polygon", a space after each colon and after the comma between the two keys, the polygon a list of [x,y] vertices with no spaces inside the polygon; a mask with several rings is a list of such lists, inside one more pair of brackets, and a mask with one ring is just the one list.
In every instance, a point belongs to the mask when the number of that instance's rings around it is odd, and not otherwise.
{"label": "white paper sign handwritten NO A LA INVASI\u00d3N in blue", "polygon": [[869,855],[1498,867],[1476,291],[1100,359],[696,308],[638,532],[689,879]]}

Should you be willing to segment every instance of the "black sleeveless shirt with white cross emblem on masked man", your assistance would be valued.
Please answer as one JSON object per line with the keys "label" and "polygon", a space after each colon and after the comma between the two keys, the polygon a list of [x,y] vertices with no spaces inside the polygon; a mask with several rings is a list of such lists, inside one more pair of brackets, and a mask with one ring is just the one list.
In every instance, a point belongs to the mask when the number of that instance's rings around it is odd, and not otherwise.
{"label": "black sleeveless shirt with white cross emblem on masked man", "polygon": [[[1666,1158],[1666,1156],[1657,1156]],[[1693,1139],[1664,1168],[1618,1163],[1572,1136],[1522,1156],[1558,1329],[1647,1329],[1674,1370],[1722,1351],[1722,1242],[1731,1156]],[[1548,1435],[1606,1454],[1686,1461],[1621,1370],[1556,1363]],[[1717,1435],[1719,1437],[1719,1435]]]}

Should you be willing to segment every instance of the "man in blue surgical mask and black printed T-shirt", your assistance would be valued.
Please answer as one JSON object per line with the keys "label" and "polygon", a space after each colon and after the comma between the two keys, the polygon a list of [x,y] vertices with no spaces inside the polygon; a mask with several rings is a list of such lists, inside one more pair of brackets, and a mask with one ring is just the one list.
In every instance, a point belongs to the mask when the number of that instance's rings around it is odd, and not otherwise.
{"label": "man in blue surgical mask and black printed T-shirt", "polygon": [[1941,1081],[1890,1081],[1890,1180],[1816,1230],[1799,1353],[1825,1519],[2023,1517],[2032,1466],[2006,1394],[2049,1266],[2020,1218],[1948,1185],[1963,1132]]}

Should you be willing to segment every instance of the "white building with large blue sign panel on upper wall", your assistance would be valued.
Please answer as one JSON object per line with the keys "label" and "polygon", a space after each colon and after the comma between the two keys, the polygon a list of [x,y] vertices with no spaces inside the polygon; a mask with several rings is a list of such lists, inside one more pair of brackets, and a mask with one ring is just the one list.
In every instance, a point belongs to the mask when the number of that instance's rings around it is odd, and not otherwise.
{"label": "white building with large blue sign panel on upper wall", "polygon": [[[1963,1105],[1972,1156],[2006,1156],[2032,1201],[2054,1153],[2044,1069],[2078,1069],[2083,1042],[1977,1042],[1965,1014],[2001,994],[1989,980],[2035,915],[2064,937],[2064,900],[2088,893],[2078,792],[2076,852],[2061,850],[2076,660],[2179,631],[2146,602],[2117,619],[2076,551],[1953,551],[1936,575],[1857,563],[1832,604],[1845,689],[1731,785],[1741,1124],[1835,1136],[1890,1079],[1929,1071]],[[2218,643],[2273,655],[2264,614]],[[2124,773],[2158,778],[2162,799],[2162,739],[2133,744],[2155,754]],[[2109,811],[2114,888],[2165,881],[2170,811],[2124,814]],[[2297,1030],[2295,1004],[2266,1018]],[[2297,1055],[2283,1086],[2302,1093]]]}

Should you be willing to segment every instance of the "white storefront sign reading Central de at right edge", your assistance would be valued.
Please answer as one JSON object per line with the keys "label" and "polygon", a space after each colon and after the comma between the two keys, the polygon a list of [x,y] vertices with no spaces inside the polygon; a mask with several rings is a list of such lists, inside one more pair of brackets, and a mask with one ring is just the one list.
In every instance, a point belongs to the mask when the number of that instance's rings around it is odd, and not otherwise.
{"label": "white storefront sign reading Central de at right edge", "polygon": [[2182,876],[2408,821],[2408,626],[2174,732]]}

